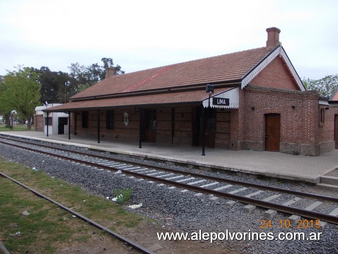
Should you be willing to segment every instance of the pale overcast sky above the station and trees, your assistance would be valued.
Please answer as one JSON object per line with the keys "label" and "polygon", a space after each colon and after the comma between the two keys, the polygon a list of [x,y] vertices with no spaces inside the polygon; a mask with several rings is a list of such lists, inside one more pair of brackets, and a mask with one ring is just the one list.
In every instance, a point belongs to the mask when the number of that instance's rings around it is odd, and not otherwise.
{"label": "pale overcast sky above the station and trees", "polygon": [[262,47],[273,26],[301,79],[338,74],[337,0],[0,0],[0,75],[102,57],[128,73]]}

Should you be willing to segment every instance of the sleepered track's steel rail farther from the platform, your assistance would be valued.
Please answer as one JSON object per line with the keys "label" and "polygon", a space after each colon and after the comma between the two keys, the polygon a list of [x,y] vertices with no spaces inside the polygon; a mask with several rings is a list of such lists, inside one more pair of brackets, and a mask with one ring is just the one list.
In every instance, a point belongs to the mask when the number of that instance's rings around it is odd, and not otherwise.
{"label": "sleepered track's steel rail farther from the platform", "polygon": [[[3,143],[5,143],[5,142],[3,142]],[[6,144],[8,144],[8,143],[6,143]],[[258,207],[262,207],[262,208],[274,209],[274,210],[277,210],[279,212],[298,214],[298,215],[303,216],[303,217],[307,217],[307,218],[311,218],[311,219],[321,219],[321,220],[325,220],[325,221],[333,223],[333,224],[338,224],[338,217],[328,215],[328,214],[324,214],[324,213],[306,211],[306,210],[302,210],[302,209],[298,209],[298,208],[293,208],[293,207],[278,205],[278,204],[274,204],[274,203],[270,203],[270,202],[266,202],[266,201],[261,201],[261,200],[254,199],[254,198],[239,196],[239,195],[236,195],[236,194],[210,190],[210,189],[202,188],[202,187],[199,187],[199,186],[193,186],[193,185],[188,185],[188,184],[184,184],[184,183],[179,183],[179,182],[175,182],[175,181],[172,181],[172,180],[167,180],[167,179],[163,179],[163,178],[159,178],[159,177],[155,177],[155,176],[151,176],[151,175],[144,175],[144,174],[140,174],[140,173],[133,172],[133,171],[128,171],[128,170],[119,169],[119,168],[115,168],[115,167],[99,165],[99,164],[96,164],[96,163],[86,162],[86,161],[82,161],[82,160],[79,160],[79,159],[69,158],[67,156],[58,155],[58,154],[54,154],[54,153],[50,153],[50,152],[46,152],[46,151],[41,151],[41,150],[38,150],[38,149],[35,149],[35,148],[20,147],[18,145],[14,145],[14,144],[8,144],[8,145],[18,147],[18,148],[29,149],[29,150],[35,151],[37,153],[44,153],[44,154],[48,154],[48,155],[58,157],[58,158],[62,158],[62,159],[65,159],[65,160],[72,160],[72,161],[75,161],[75,162],[79,162],[81,164],[90,165],[92,167],[99,167],[101,169],[114,170],[114,171],[120,170],[122,173],[127,174],[127,175],[131,175],[131,176],[139,177],[139,178],[143,178],[143,179],[148,179],[150,181],[171,185],[171,186],[179,187],[179,188],[186,189],[186,190],[197,191],[197,192],[206,193],[206,194],[212,194],[214,196],[232,199],[232,200],[238,200],[239,202],[255,205],[255,206],[258,206]],[[77,152],[75,152],[75,153],[77,153]],[[86,155],[88,155],[88,154],[86,154]],[[131,164],[133,164],[133,163],[131,163]],[[150,166],[150,165],[148,165],[148,166]]]}

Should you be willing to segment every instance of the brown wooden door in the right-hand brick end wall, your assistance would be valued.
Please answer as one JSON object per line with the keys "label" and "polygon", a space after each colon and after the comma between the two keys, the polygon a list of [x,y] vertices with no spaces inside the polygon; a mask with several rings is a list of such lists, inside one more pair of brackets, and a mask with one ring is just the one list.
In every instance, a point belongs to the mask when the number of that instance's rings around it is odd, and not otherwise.
{"label": "brown wooden door in the right-hand brick end wall", "polygon": [[265,116],[265,150],[279,151],[280,145],[280,115]]}

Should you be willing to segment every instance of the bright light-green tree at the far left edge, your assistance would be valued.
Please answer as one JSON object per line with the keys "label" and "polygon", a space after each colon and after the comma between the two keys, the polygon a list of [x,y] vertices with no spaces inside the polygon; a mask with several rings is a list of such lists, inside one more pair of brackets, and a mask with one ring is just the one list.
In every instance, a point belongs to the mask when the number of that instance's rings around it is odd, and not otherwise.
{"label": "bright light-green tree at the far left edge", "polygon": [[3,92],[0,95],[0,105],[10,110],[16,110],[28,120],[27,128],[31,128],[31,118],[35,107],[40,105],[40,83],[38,74],[30,68],[18,65],[17,70],[9,71],[3,79]]}

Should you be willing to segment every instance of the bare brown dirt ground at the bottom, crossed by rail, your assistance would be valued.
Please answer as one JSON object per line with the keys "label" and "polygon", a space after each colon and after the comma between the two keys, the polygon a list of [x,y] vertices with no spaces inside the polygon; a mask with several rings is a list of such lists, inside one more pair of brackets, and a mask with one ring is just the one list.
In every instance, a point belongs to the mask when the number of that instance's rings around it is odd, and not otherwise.
{"label": "bare brown dirt ground at the bottom, crossed by rail", "polygon": [[[122,229],[120,233],[136,242],[137,244],[147,248],[157,254],[239,254],[240,251],[234,246],[230,246],[227,242],[209,241],[184,241],[184,240],[158,240],[158,232],[173,232],[173,230],[163,229],[151,222],[140,225],[133,229]],[[57,254],[137,254],[139,251],[124,244],[112,236],[99,236],[93,233],[92,239],[82,243],[69,243],[62,246]]]}

